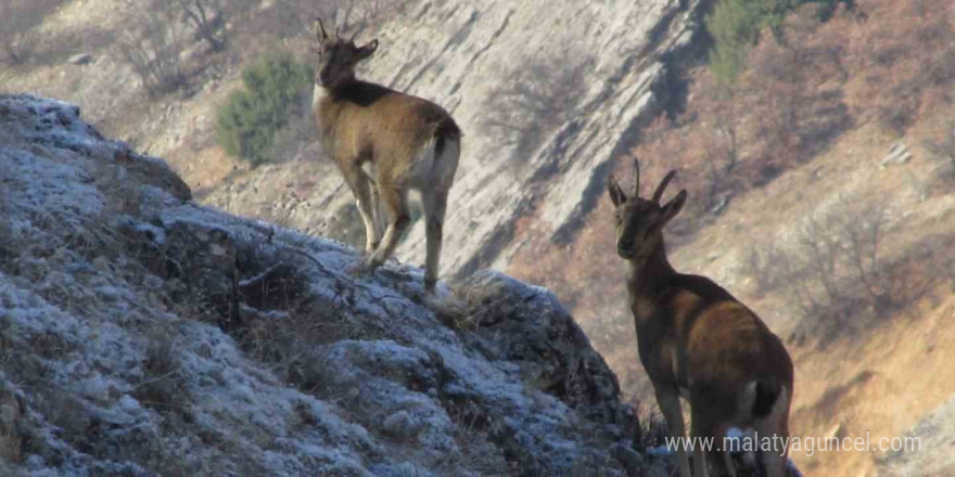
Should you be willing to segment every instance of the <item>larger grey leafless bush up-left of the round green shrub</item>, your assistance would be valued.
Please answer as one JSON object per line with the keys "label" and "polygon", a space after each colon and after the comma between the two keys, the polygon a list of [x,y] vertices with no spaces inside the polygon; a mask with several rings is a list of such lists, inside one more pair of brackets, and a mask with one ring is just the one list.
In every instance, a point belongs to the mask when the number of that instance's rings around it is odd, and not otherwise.
{"label": "larger grey leafless bush up-left of the round green shrub", "polygon": [[133,15],[131,26],[116,42],[119,56],[142,80],[150,94],[176,91],[186,83],[179,55],[183,24],[173,4],[153,1],[148,11]]}

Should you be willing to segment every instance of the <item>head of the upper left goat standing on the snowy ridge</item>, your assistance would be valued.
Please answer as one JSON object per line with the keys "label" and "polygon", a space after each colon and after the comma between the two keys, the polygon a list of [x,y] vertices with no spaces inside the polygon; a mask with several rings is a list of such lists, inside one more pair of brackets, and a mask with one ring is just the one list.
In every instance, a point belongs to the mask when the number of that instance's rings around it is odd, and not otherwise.
{"label": "head of the upper left goat standing on the snowy ridge", "polygon": [[378,40],[361,47],[355,46],[355,37],[343,39],[335,28],[334,35],[324,30],[321,18],[315,18],[315,36],[318,40],[318,62],[315,65],[315,81],[326,88],[338,88],[355,79],[355,65],[371,56],[378,49]]}

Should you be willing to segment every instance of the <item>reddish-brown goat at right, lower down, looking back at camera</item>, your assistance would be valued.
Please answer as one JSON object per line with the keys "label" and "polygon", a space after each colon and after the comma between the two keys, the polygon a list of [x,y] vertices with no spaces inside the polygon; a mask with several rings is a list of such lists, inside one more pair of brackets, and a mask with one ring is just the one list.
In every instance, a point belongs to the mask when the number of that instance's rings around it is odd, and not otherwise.
{"label": "reddish-brown goat at right, lower down, looking back at camera", "polygon": [[[634,164],[634,192],[627,197],[611,176],[608,192],[616,221],[616,253],[627,262],[627,293],[640,361],[673,437],[683,439],[679,397],[689,400],[690,437],[696,439],[693,475],[736,475],[726,449],[730,427],[752,428],[762,453],[763,475],[784,476],[788,454],[792,361],[782,341],[746,306],[704,276],[677,273],[666,259],[663,227],[686,203],[687,192],[660,205],[670,171],[653,197],[639,197],[640,165]],[[774,437],[777,436],[777,437]],[[713,449],[702,449],[712,439]],[[722,459],[720,459],[722,453]],[[686,449],[677,449],[680,477],[689,477]]]}

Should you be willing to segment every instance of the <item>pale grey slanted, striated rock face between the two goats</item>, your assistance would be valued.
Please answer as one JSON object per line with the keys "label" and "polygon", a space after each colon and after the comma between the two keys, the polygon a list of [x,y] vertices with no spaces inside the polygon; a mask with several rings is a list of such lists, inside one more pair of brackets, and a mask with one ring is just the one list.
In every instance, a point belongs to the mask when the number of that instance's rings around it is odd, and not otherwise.
{"label": "pale grey slanted, striated rock face between the two goats", "polygon": [[[370,66],[395,72],[384,76],[387,83],[446,104],[469,132],[450,198],[444,262],[446,271],[462,274],[505,267],[514,221],[538,201],[537,237],[573,232],[602,192],[609,162],[627,152],[639,126],[659,113],[664,99],[655,90],[666,73],[658,56],[690,44],[700,7],[679,0],[468,3],[425,3],[426,17],[412,11],[389,25],[382,36],[395,48]],[[447,39],[421,37],[429,27]],[[417,35],[403,34],[412,30]],[[486,131],[495,115],[488,96],[515,70],[564,61],[564,52],[591,55],[578,106],[531,157],[514,157],[514,147]],[[526,166],[509,173],[514,160]],[[422,242],[419,228],[406,250],[420,257]]]}

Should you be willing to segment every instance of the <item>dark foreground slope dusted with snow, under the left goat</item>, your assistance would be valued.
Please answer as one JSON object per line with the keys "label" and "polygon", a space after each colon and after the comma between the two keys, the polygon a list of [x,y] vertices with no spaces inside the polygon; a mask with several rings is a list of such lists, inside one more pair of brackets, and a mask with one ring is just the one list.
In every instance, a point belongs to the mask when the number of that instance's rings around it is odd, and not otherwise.
{"label": "dark foreground slope dusted with snow, under the left goat", "polygon": [[638,475],[633,411],[546,289],[353,276],[189,202],[69,104],[0,96],[0,474]]}

